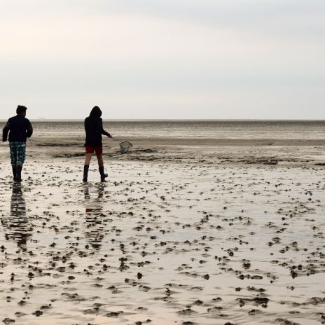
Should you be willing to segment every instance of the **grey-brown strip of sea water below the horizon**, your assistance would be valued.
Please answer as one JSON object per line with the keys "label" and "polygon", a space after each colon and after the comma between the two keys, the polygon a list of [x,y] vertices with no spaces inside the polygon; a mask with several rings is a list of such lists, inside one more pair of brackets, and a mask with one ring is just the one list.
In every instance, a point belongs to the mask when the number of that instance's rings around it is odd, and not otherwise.
{"label": "grey-brown strip of sea water below the horizon", "polygon": [[[83,120],[32,120],[34,135],[83,135]],[[3,127],[4,123],[0,123]],[[325,120],[104,120],[116,137],[325,139]]]}

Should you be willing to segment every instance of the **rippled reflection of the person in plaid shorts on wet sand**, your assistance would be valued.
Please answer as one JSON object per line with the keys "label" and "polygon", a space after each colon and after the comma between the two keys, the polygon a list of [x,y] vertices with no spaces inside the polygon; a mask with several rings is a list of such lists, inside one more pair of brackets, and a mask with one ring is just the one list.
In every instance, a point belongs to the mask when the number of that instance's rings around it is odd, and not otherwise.
{"label": "rippled reflection of the person in plaid shorts on wet sand", "polygon": [[32,225],[26,216],[26,202],[20,183],[13,185],[11,195],[11,214],[1,218],[1,224],[6,228],[6,240],[17,242],[18,247],[26,251],[29,237],[32,237]]}

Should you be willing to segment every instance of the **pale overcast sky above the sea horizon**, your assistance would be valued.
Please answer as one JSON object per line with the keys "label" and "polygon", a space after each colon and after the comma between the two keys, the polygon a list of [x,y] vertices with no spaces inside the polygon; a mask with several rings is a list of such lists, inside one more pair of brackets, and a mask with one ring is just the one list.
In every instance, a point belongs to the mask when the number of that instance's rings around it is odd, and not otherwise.
{"label": "pale overcast sky above the sea horizon", "polygon": [[325,119],[324,0],[0,8],[0,119]]}

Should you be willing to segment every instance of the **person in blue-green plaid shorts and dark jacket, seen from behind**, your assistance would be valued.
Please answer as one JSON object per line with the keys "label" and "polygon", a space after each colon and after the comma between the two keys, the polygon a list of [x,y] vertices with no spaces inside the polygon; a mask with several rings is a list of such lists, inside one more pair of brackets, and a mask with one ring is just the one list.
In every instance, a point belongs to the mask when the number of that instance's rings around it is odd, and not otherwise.
{"label": "person in blue-green plaid shorts and dark jacket, seen from behind", "polygon": [[2,141],[6,142],[9,134],[13,180],[22,181],[22,165],[25,162],[26,141],[32,137],[33,127],[26,118],[27,107],[18,105],[16,116],[9,118],[2,130]]}

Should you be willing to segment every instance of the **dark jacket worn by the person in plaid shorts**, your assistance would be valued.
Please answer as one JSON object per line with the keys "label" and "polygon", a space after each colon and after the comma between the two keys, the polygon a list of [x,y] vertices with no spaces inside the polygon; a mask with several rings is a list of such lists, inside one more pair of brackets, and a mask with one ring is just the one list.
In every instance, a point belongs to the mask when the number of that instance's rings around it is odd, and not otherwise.
{"label": "dark jacket worn by the person in plaid shorts", "polygon": [[28,118],[16,115],[9,118],[4,130],[2,130],[2,141],[7,141],[8,133],[9,141],[26,142],[27,138],[32,137],[33,127]]}

